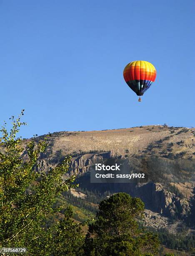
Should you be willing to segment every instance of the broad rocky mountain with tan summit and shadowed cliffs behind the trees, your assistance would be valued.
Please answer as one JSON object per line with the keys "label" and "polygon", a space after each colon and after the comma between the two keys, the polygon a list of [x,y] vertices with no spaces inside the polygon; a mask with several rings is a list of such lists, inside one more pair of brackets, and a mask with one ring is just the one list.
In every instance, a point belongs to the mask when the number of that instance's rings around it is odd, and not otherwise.
{"label": "broad rocky mountain with tan summit and shadowed cliffs behind the trees", "polygon": [[[36,141],[42,138],[44,136],[37,137]],[[115,192],[128,192],[145,203],[143,225],[169,229],[171,233],[180,233],[187,226],[188,234],[195,233],[195,128],[149,125],[55,132],[48,139],[47,151],[40,156],[37,171],[47,172],[66,155],[72,156],[69,174],[77,174],[80,187],[64,196],[75,207],[82,204],[81,208],[95,213],[100,199]],[[90,183],[95,164],[110,161],[119,161],[134,172],[144,172],[149,179],[147,182]]]}

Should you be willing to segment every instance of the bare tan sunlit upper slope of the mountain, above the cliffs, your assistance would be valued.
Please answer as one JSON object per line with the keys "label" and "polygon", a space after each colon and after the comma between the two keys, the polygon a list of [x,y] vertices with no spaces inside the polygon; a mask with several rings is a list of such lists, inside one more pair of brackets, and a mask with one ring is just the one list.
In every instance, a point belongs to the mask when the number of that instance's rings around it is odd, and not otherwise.
{"label": "bare tan sunlit upper slope of the mountain, above the cliffs", "polygon": [[[63,154],[87,154],[91,151],[114,151],[118,155],[142,154],[154,151],[170,158],[194,157],[195,128],[168,127],[166,125],[140,126],[104,131],[56,132],[50,137],[52,152]],[[172,155],[173,154],[173,155]]]}

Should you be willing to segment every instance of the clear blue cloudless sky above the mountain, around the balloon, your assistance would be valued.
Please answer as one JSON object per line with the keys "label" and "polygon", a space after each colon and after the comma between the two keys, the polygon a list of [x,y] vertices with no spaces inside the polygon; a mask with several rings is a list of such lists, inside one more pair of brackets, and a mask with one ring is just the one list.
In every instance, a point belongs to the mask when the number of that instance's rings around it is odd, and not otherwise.
{"label": "clear blue cloudless sky above the mountain, around the balloon", "polygon": [[[195,126],[195,1],[0,0],[0,121],[22,136],[138,125]],[[143,101],[123,69],[150,61]]]}

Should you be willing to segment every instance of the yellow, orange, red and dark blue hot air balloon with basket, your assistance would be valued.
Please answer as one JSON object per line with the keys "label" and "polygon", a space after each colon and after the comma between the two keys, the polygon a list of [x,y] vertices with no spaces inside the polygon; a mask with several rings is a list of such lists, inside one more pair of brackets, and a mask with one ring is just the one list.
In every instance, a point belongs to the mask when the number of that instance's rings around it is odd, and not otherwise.
{"label": "yellow, orange, red and dark blue hot air balloon with basket", "polygon": [[[156,69],[148,61],[132,61],[123,71],[125,82],[138,95],[142,96],[156,78]],[[141,98],[139,97],[139,100]]]}

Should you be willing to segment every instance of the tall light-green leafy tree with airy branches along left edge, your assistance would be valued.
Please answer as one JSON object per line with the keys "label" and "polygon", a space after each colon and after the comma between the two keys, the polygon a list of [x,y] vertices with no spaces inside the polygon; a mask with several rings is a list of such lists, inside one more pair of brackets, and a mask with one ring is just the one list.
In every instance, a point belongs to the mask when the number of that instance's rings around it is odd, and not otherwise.
{"label": "tall light-green leafy tree with airy branches along left edge", "polygon": [[[45,228],[48,217],[65,208],[65,205],[53,206],[56,198],[74,187],[75,176],[65,181],[61,178],[69,168],[70,158],[65,157],[62,164],[47,174],[35,172],[38,157],[47,146],[47,137],[38,143],[30,140],[24,149],[22,138],[16,138],[20,126],[25,125],[20,122],[21,115],[17,119],[12,116],[10,133],[6,123],[0,130],[0,247],[27,247],[29,255],[58,255],[58,251],[60,255],[63,252],[69,255],[69,251],[70,255],[77,255],[83,236],[79,224],[70,220],[69,208],[62,222]],[[28,160],[23,158],[24,151]],[[70,235],[67,248],[59,234],[66,237],[66,242]],[[72,250],[75,254],[71,254]]]}

